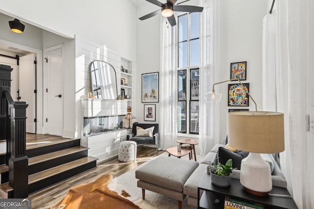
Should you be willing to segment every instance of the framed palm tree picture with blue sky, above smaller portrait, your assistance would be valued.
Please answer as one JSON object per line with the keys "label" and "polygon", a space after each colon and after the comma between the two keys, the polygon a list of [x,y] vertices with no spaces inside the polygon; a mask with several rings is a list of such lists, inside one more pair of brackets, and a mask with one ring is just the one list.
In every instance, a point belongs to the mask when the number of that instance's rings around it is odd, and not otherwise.
{"label": "framed palm tree picture with blue sky, above smaller portrait", "polygon": [[142,74],[142,102],[158,102],[158,78],[158,72]]}

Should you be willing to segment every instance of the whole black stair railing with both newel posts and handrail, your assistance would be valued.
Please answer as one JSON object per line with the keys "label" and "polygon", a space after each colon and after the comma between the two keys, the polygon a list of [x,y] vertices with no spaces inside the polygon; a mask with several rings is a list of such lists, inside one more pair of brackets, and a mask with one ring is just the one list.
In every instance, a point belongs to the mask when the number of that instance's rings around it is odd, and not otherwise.
{"label": "whole black stair railing with both newel posts and handrail", "polygon": [[[0,137],[7,139],[9,185],[13,198],[28,196],[28,158],[26,156],[26,102],[13,101],[10,66],[0,65]],[[9,140],[8,140],[9,139]]]}

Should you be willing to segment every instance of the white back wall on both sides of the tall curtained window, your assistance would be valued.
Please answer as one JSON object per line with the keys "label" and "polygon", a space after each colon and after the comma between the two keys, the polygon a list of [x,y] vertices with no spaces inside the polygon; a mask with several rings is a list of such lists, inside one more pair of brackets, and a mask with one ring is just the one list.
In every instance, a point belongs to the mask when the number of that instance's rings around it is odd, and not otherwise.
{"label": "white back wall on both sides of the tall curtained window", "polygon": [[[219,80],[230,79],[230,63],[247,61],[247,80],[250,83],[250,93],[262,110],[262,18],[267,12],[264,0],[219,0]],[[194,2],[193,2],[194,3]],[[190,1],[186,2],[190,4]],[[153,7],[153,8],[152,8]],[[143,3],[138,7],[137,14],[141,17],[157,10],[151,3]],[[159,71],[160,54],[160,16],[145,21],[137,21],[137,101],[141,101],[141,73]],[[230,82],[231,83],[231,82]],[[162,85],[159,83],[159,85]],[[228,83],[217,86],[217,91],[223,93],[220,101],[220,140],[224,142],[227,135],[227,93]],[[209,90],[210,91],[210,90]],[[157,122],[159,106],[157,104]],[[141,103],[136,110],[138,121],[143,120]],[[244,108],[243,108],[244,109]],[[254,110],[250,100],[250,110]]]}

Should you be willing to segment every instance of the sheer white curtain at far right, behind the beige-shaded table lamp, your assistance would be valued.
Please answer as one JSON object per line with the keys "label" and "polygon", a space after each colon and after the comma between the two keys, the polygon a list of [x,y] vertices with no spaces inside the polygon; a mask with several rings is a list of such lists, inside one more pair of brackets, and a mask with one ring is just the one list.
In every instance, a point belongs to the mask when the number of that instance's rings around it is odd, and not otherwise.
{"label": "sheer white curtain at far right, behind the beige-shaded table lamp", "polygon": [[[314,189],[312,159],[309,158],[313,152],[313,147],[307,146],[308,140],[305,131],[307,73],[310,69],[309,63],[313,59],[309,54],[313,54],[313,46],[309,45],[309,40],[313,39],[309,31],[313,31],[314,20],[311,19],[313,12],[311,0],[286,0],[276,1],[274,7],[275,22],[275,65],[274,61],[263,54],[265,61],[263,64],[263,74],[276,71],[276,79],[272,80],[269,74],[264,76],[270,80],[270,87],[276,91],[276,99],[272,94],[263,93],[263,100],[272,105],[265,106],[274,111],[285,114],[285,151],[280,153],[281,169],[288,182],[288,190],[293,195],[293,199],[298,208],[311,209],[314,207],[311,190]],[[269,16],[269,15],[267,15]],[[264,22],[264,31],[269,29],[270,19]],[[265,19],[264,19],[265,20]],[[263,46],[272,47],[271,40],[264,36]],[[312,42],[313,43],[313,42]],[[267,60],[268,59],[268,60]],[[271,68],[269,63],[272,63]],[[276,88],[275,88],[276,87]],[[265,88],[265,86],[263,86]],[[277,103],[277,104],[276,104]],[[272,109],[273,107],[276,107]]]}

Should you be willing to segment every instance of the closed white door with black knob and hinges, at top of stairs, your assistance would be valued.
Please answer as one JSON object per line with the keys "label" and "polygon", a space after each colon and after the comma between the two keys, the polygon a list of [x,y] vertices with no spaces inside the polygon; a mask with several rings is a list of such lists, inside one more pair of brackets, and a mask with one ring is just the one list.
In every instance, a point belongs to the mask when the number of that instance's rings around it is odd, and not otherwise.
{"label": "closed white door with black knob and hinges, at top of stairs", "polygon": [[47,134],[62,136],[63,132],[63,48],[47,50]]}

